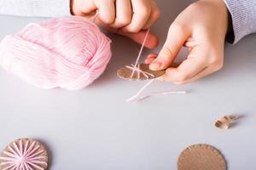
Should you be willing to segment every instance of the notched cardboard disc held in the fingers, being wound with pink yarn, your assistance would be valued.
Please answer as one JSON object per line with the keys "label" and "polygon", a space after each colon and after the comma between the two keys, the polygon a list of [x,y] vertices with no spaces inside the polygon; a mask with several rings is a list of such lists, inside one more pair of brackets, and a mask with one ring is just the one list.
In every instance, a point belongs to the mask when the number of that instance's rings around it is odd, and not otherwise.
{"label": "notched cardboard disc held in the fingers, being wound with pink yarn", "polygon": [[117,71],[117,75],[118,75],[118,77],[125,79],[125,80],[144,81],[144,80],[148,80],[148,79],[154,79],[157,77],[161,77],[166,72],[166,71],[151,71],[149,69],[148,64],[139,64],[138,68],[141,71],[145,71],[145,72],[149,73],[149,74],[147,74],[148,77],[145,77],[142,72],[138,72],[138,71],[134,71],[134,74],[131,77],[132,70],[131,70],[131,68],[127,68],[127,67],[120,68]]}

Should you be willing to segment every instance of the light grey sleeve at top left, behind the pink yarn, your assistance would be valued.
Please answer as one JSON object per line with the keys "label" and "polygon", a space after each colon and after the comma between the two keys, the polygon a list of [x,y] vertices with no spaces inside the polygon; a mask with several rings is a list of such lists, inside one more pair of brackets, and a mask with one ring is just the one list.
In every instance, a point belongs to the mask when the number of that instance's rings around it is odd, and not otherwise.
{"label": "light grey sleeve at top left, behind the pink yarn", "polygon": [[70,15],[70,0],[0,0],[0,14],[58,17]]}

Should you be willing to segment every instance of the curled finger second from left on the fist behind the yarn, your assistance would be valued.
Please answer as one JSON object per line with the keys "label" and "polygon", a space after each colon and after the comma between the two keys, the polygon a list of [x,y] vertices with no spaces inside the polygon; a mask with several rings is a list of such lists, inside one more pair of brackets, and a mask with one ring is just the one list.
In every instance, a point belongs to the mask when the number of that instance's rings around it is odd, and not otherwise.
{"label": "curled finger second from left on the fist behind the yarn", "polygon": [[112,24],[115,18],[114,0],[97,1],[96,7],[99,10],[99,18],[105,24]]}

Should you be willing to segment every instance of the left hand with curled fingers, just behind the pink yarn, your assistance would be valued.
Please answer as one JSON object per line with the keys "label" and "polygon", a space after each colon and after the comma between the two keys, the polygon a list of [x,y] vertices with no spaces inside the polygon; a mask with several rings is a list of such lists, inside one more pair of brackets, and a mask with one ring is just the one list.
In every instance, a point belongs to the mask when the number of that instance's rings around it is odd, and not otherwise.
{"label": "left hand with curled fingers, just behind the pink yarn", "polygon": [[[98,10],[99,25],[140,43],[145,36],[142,30],[147,30],[160,17],[154,0],[71,0],[71,10],[85,17],[93,16]],[[157,37],[149,34],[148,38],[146,47],[154,48]]]}

